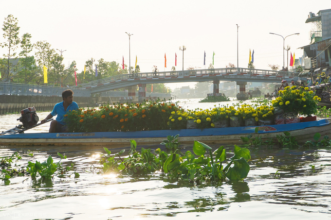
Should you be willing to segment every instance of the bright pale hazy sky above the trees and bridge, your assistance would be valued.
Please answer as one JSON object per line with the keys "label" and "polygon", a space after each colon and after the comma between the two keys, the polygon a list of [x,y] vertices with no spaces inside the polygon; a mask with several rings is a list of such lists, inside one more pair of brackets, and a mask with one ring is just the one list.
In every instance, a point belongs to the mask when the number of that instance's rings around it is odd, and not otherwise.
{"label": "bright pale hazy sky above the trees and bridge", "polygon": [[255,68],[270,69],[268,64],[283,66],[283,39],[269,33],[300,33],[285,39],[285,47],[291,46],[289,52],[298,58],[303,50],[297,48],[310,43],[311,24],[305,23],[309,12],[330,8],[331,0],[6,0],[1,1],[0,22],[2,27],[4,17],[17,17],[20,36],[29,33],[33,43],[45,40],[66,50],[64,64],[75,60],[79,71],[91,57],[122,64],[124,56],[129,67],[128,32],[133,34],[131,66],[137,55],[142,72],[151,72],[154,65],[159,71],[171,70],[175,53],[176,69],[181,70],[183,45],[184,69],[208,68],[213,51],[214,68],[237,66],[238,24],[239,67],[247,68],[251,49]]}

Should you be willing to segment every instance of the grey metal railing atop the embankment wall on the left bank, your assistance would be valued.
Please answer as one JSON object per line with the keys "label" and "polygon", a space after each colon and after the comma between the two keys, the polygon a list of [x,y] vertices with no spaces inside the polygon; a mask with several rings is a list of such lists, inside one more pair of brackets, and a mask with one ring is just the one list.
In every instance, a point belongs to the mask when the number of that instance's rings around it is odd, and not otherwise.
{"label": "grey metal railing atop the embankment wall on the left bank", "polygon": [[[62,96],[66,87],[45,85],[28,85],[17,83],[0,83],[0,95],[24,95],[24,96]],[[72,89],[75,96],[90,97],[91,91]]]}

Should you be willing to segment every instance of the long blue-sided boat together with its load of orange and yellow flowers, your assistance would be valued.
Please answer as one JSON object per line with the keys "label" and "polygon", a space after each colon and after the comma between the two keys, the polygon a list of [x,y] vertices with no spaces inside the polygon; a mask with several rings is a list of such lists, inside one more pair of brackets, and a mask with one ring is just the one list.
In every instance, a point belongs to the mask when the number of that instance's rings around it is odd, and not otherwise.
{"label": "long blue-sided boat together with its load of orange and yellow flowers", "polygon": [[319,98],[308,87],[288,86],[278,95],[270,103],[215,105],[205,110],[185,110],[165,100],[105,104],[65,115],[70,133],[0,135],[0,142],[3,145],[118,145],[134,139],[138,144],[159,144],[166,136],[179,134],[181,142],[238,144],[240,137],[249,134],[273,139],[290,132],[298,142],[312,140],[316,133],[331,134],[327,119],[312,117]]}

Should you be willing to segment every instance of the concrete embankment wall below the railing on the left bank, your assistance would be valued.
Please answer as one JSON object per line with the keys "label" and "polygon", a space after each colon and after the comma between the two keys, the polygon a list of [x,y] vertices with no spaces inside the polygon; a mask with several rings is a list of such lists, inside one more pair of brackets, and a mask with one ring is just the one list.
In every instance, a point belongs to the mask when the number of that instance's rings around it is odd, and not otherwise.
{"label": "concrete embankment wall below the railing on the left bank", "polygon": [[[75,97],[79,107],[93,107],[107,103],[110,97]],[[119,97],[111,97],[112,102],[119,102]],[[17,96],[0,95],[0,115],[20,112],[21,110],[35,106],[37,111],[52,111],[56,103],[62,102],[59,96]]]}

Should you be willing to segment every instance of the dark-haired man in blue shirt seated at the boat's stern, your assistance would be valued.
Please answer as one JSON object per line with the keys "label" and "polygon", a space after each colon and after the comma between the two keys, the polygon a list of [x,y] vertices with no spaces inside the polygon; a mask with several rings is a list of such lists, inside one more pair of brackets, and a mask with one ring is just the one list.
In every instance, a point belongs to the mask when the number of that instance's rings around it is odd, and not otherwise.
{"label": "dark-haired man in blue shirt seated at the boat's stern", "polygon": [[69,111],[78,109],[78,104],[74,102],[73,95],[74,92],[71,89],[63,91],[63,102],[55,104],[53,111],[45,119],[41,120],[41,124],[43,124],[46,120],[57,115],[56,119],[51,122],[50,133],[68,132],[67,123],[64,121],[64,115],[68,114]]}

